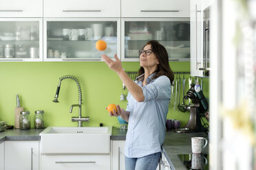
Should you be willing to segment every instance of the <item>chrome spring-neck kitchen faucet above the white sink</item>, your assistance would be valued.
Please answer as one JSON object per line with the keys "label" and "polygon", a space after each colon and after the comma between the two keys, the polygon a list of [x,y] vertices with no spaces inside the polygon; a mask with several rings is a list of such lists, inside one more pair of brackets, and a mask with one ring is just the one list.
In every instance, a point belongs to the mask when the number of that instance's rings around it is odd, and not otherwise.
{"label": "chrome spring-neck kitchen faucet above the white sink", "polygon": [[83,122],[84,121],[89,121],[89,117],[82,117],[82,112],[81,112],[81,106],[82,106],[82,90],[81,90],[81,85],[80,82],[78,81],[78,79],[73,76],[73,75],[64,75],[63,77],[60,77],[60,82],[58,82],[58,86],[57,86],[57,90],[56,90],[56,95],[54,97],[54,102],[58,103],[58,93],[60,92],[60,88],[61,88],[61,81],[65,80],[65,79],[72,79],[76,82],[76,85],[78,87],[78,104],[72,104],[72,106],[70,106],[70,113],[72,113],[73,107],[78,106],[79,108],[79,116],[78,117],[72,117],[71,121],[77,121],[78,122],[78,127],[82,127],[83,126]]}

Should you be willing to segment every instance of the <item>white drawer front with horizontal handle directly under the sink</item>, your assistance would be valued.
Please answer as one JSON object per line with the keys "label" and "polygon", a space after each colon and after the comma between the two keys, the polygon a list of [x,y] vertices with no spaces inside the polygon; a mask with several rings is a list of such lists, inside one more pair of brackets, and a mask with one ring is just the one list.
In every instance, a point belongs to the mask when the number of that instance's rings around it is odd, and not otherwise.
{"label": "white drawer front with horizontal handle directly under the sink", "polygon": [[41,170],[109,170],[110,155],[41,156]]}

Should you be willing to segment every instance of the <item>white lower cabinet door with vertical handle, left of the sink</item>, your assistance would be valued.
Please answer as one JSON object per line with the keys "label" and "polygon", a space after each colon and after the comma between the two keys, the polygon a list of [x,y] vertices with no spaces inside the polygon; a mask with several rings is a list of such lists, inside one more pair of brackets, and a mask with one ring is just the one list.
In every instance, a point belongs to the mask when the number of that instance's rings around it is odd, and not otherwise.
{"label": "white lower cabinet door with vertical handle, left of the sink", "polygon": [[5,169],[39,169],[39,141],[6,141]]}

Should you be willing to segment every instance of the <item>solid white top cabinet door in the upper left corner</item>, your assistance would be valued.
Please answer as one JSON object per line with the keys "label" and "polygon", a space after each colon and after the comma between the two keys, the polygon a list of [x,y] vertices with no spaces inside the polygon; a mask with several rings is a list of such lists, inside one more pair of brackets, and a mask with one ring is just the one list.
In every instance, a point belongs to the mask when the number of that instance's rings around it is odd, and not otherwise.
{"label": "solid white top cabinet door in the upper left corner", "polygon": [[43,17],[43,0],[0,0],[0,17]]}

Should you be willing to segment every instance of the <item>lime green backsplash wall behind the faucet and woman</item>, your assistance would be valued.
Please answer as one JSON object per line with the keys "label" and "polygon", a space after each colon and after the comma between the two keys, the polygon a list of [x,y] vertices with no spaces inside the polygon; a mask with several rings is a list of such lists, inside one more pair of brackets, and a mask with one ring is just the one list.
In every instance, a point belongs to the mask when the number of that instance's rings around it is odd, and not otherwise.
{"label": "lime green backsplash wall behind the faucet and woman", "polygon": [[[190,62],[170,62],[173,71],[190,71]],[[137,71],[138,62],[122,62],[125,71]],[[78,117],[78,108],[70,113],[70,106],[78,104],[78,90],[73,80],[63,80],[58,104],[52,102],[63,75],[75,75],[81,82],[82,116],[90,121],[84,126],[113,125],[119,127],[116,117],[109,117],[105,108],[108,104],[126,107],[120,101],[122,82],[104,62],[0,62],[0,121],[14,125],[16,94],[20,95],[21,106],[30,111],[33,119],[35,110],[45,111],[45,126],[77,126],[71,117]],[[189,89],[186,84],[186,89]],[[204,94],[209,96],[209,80],[204,80]],[[185,125],[189,112],[169,109],[169,119],[178,119]],[[31,123],[34,127],[34,123]]]}

